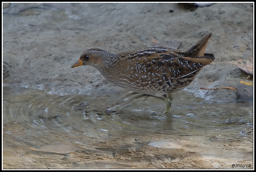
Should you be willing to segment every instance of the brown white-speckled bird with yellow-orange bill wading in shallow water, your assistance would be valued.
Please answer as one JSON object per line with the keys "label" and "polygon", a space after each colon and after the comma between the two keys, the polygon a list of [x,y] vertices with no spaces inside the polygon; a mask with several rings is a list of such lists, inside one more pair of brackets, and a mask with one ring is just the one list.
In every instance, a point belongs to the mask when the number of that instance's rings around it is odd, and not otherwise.
{"label": "brown white-speckled bird with yellow-orange bill wading in shallow water", "polygon": [[205,53],[212,32],[188,50],[153,46],[110,53],[98,48],[80,55],[71,67],[95,67],[107,80],[141,95],[161,97],[166,102],[164,114],[171,107],[172,94],[187,87],[203,66],[215,60]]}

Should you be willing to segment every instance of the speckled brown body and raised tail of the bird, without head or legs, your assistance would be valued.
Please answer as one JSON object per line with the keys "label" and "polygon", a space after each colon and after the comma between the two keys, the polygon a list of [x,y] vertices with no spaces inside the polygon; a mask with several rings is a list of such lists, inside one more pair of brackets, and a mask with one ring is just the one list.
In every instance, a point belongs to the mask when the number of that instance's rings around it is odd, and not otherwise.
{"label": "speckled brown body and raised tail of the bird, without head or legs", "polygon": [[210,36],[189,50],[155,46],[117,54],[107,79],[138,93],[160,96],[177,92],[188,86],[203,66],[214,61],[214,55],[204,53]]}

